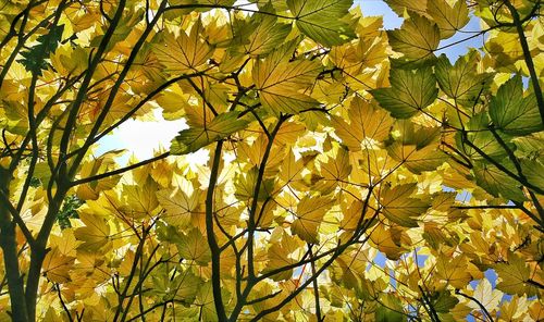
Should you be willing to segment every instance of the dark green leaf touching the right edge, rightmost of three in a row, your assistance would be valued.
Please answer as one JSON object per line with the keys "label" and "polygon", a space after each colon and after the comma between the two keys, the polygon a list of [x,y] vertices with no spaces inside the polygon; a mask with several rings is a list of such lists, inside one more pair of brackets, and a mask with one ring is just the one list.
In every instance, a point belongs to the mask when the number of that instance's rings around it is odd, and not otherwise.
{"label": "dark green leaf touching the right edge, rightmost of three in a row", "polygon": [[542,119],[534,94],[523,97],[519,75],[503,84],[491,99],[490,116],[496,128],[511,135],[527,135],[542,131]]}

